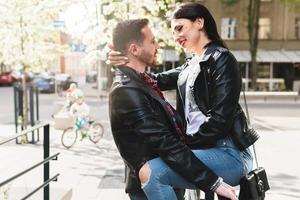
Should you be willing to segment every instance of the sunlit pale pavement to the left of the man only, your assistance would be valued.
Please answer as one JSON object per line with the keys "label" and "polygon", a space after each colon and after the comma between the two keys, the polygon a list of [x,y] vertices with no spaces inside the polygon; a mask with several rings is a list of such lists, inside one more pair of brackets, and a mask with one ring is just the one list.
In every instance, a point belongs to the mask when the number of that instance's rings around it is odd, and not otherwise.
{"label": "sunlit pale pavement to the left of the man only", "polygon": [[[108,126],[108,124],[104,125]],[[9,133],[14,133],[14,127],[0,125],[0,132],[0,140],[3,140],[12,136]],[[70,194],[72,200],[128,199],[124,192],[123,161],[107,131],[105,137],[97,145],[88,140],[77,141],[69,150],[61,145],[61,134],[61,131],[50,129],[50,156],[60,152],[58,160],[50,162],[50,177],[60,173],[58,181],[50,183],[51,199],[63,199],[64,196]],[[42,142],[36,145],[17,145],[12,141],[1,146],[0,160],[5,162],[1,162],[0,165],[0,181],[40,162],[43,159],[42,155]],[[9,200],[20,199],[40,185],[42,179],[42,167],[39,167],[28,175],[18,178],[12,184],[8,184]],[[42,190],[30,199],[42,199]]]}

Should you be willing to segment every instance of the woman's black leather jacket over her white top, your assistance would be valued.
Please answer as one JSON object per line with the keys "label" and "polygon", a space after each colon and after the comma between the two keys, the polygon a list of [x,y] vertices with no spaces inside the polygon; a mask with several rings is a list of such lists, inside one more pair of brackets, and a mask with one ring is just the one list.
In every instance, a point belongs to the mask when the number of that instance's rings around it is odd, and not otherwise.
{"label": "woman's black leather jacket over her white top", "polygon": [[[154,75],[162,90],[178,89],[177,111],[184,119],[185,83],[177,81],[179,73],[188,67],[184,65]],[[248,129],[244,112],[239,105],[241,74],[235,57],[228,49],[210,44],[199,63],[199,73],[193,95],[199,109],[208,117],[194,136],[187,136],[191,148],[208,148],[226,136],[244,150],[253,142],[245,136]],[[178,87],[177,87],[178,86]]]}

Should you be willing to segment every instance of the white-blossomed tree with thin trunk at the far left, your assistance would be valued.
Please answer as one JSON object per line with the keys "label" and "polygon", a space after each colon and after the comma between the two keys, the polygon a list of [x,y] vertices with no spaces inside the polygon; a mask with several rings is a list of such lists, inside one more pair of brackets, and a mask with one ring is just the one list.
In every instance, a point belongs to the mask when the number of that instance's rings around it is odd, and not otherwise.
{"label": "white-blossomed tree with thin trunk at the far left", "polygon": [[[71,3],[60,0],[10,0],[0,3],[0,63],[13,69],[46,69],[65,50],[53,27],[59,13]],[[26,77],[22,88],[26,91]],[[27,126],[28,98],[23,92],[23,128]]]}

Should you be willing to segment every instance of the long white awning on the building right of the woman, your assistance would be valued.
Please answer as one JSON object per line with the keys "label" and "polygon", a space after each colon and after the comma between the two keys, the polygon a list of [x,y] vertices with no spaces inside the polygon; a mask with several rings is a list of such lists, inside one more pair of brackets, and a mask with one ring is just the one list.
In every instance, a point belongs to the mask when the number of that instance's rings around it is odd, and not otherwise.
{"label": "long white awning on the building right of the woman", "polygon": [[[238,62],[251,62],[251,55],[246,50],[231,51]],[[257,62],[267,63],[297,63],[300,62],[300,51],[258,50]]]}

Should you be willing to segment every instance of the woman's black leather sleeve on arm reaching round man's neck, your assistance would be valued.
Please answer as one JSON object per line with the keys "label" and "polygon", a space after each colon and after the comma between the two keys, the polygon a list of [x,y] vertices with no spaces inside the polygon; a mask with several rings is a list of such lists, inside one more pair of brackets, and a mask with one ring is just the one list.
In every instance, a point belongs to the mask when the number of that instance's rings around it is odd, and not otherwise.
{"label": "woman's black leather sleeve on arm reaching round man's neck", "polygon": [[173,90],[177,87],[178,75],[184,68],[184,65],[165,72],[154,74],[153,78],[157,80],[157,85],[160,90]]}

